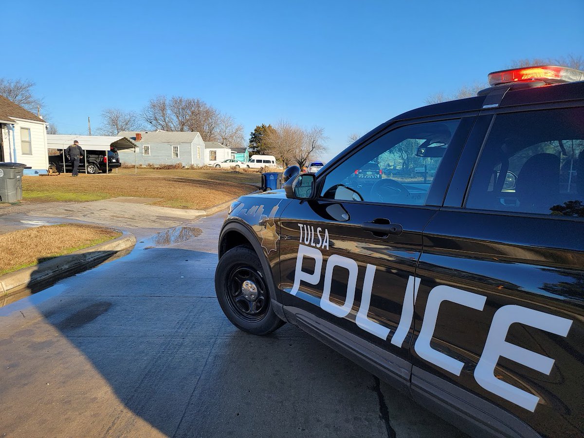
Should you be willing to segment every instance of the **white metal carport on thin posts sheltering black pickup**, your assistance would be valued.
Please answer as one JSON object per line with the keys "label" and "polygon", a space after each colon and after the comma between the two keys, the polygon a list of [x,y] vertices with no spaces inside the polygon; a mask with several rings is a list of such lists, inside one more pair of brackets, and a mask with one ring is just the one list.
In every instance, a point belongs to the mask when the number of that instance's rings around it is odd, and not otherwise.
{"label": "white metal carport on thin posts sheltering black pickup", "polygon": [[[65,135],[65,134],[47,134],[47,147],[64,151],[73,142],[77,140],[79,146],[85,151],[105,151],[106,157],[110,147],[117,150],[133,149],[134,150],[134,173],[137,173],[136,149],[137,144],[128,137],[119,137],[116,135]],[[106,160],[106,169],[109,160]],[[84,160],[85,172],[87,173],[87,160]],[[63,154],[63,169],[65,169],[65,154]],[[106,172],[107,173],[107,172]]]}

